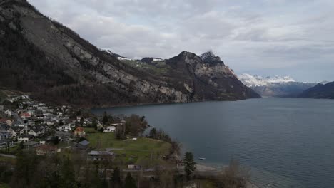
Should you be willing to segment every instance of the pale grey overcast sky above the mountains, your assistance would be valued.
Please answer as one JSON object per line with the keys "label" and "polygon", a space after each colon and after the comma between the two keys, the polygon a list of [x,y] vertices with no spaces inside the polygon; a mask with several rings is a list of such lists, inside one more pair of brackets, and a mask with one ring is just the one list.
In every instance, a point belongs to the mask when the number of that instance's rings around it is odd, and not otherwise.
{"label": "pale grey overcast sky above the mountains", "polygon": [[212,50],[236,73],[334,80],[333,0],[29,0],[129,58]]}

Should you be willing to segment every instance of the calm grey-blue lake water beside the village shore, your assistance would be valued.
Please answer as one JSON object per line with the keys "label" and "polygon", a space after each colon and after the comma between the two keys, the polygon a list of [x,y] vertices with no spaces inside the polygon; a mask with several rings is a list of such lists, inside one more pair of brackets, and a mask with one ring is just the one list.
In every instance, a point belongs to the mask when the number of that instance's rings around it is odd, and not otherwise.
{"label": "calm grey-blue lake water beside the village shore", "polygon": [[94,109],[145,115],[213,166],[231,157],[262,187],[334,187],[334,100],[264,98]]}

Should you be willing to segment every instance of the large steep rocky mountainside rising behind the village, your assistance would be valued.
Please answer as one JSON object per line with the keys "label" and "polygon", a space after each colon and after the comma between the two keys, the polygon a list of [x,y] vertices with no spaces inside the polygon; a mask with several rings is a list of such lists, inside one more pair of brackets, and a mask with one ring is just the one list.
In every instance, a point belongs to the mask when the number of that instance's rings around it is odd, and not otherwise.
{"label": "large steep rocky mountainside rising behind the village", "polygon": [[0,86],[54,103],[108,106],[259,97],[217,57],[211,62],[183,52],[166,61],[144,60],[146,68],[141,68],[99,50],[26,0],[0,1],[0,54]]}

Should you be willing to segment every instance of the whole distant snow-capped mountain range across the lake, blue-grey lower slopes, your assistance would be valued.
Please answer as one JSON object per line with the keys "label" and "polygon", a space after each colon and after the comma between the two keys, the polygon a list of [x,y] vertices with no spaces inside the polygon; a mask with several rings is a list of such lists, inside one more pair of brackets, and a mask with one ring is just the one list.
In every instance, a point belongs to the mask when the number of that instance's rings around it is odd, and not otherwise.
{"label": "whole distant snow-capped mountain range across the lake, blue-grey lower slopes", "polygon": [[297,97],[304,90],[316,85],[316,83],[296,82],[289,76],[263,78],[257,75],[242,74],[238,78],[263,97]]}

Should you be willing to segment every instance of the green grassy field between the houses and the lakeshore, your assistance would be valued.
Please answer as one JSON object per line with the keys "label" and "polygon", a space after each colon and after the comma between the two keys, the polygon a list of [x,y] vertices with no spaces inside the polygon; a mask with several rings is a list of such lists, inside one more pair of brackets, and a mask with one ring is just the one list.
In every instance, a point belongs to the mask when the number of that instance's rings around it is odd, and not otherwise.
{"label": "green grassy field between the houses and the lakeshore", "polygon": [[[92,132],[87,130],[86,132]],[[112,148],[116,153],[116,161],[121,164],[141,164],[148,163],[148,167],[156,162],[161,162],[161,156],[167,155],[171,144],[161,140],[153,140],[142,137],[138,140],[116,140],[114,133],[90,133],[87,136],[91,143],[90,147],[96,150]],[[149,161],[149,162],[148,162]]]}

